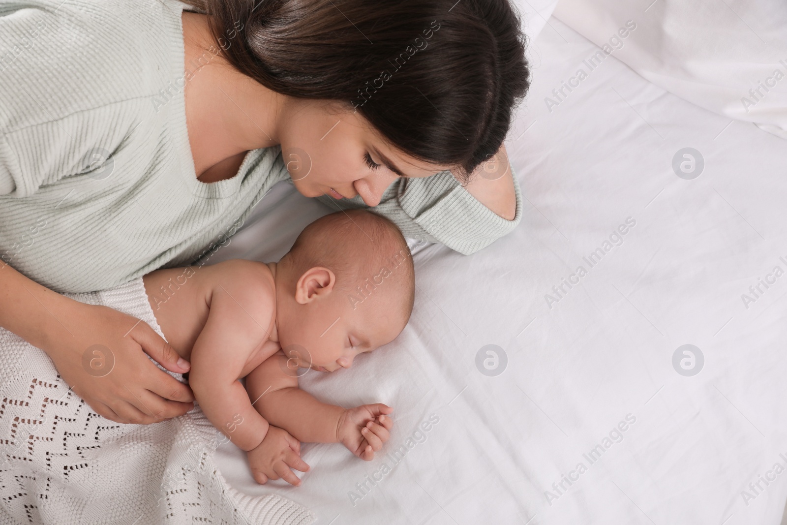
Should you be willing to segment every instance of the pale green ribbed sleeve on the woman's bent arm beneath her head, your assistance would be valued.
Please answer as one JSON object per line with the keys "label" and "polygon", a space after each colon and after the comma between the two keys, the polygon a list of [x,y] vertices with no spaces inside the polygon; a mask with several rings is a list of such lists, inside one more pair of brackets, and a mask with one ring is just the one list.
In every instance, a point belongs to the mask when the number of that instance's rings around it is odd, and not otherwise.
{"label": "pale green ribbed sleeve on the woman's bent arm beneath her head", "polygon": [[379,204],[370,207],[360,195],[336,200],[317,197],[331,209],[371,209],[396,224],[405,237],[439,242],[470,255],[507,235],[522,220],[522,193],[513,171],[516,213],[505,220],[482,205],[464,189],[451,172],[439,172],[420,179],[397,179],[382,194]]}

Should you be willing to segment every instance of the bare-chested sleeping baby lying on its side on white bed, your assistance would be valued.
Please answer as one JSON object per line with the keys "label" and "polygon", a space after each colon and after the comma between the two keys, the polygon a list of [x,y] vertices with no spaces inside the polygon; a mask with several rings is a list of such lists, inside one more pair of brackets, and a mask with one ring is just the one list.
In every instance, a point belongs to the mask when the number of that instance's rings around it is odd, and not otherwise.
{"label": "bare-chested sleeping baby lying on its side on white bed", "polygon": [[349,368],[404,329],[414,270],[390,220],[331,213],[305,227],[278,263],[167,268],[143,282],[164,337],[191,363],[194,397],[246,450],[257,482],[300,485],[290,470],[309,470],[300,442],[340,442],[371,460],[389,438],[390,407],[327,405],[298,389],[297,370]]}

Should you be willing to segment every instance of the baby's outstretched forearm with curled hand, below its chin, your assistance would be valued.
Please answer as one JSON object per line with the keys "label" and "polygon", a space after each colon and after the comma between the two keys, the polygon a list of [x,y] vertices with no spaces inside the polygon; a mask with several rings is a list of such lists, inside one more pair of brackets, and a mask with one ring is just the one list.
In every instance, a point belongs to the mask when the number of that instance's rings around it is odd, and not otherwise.
{"label": "baby's outstretched forearm with curled hand, below its chin", "polygon": [[390,437],[393,411],[382,403],[352,409],[317,401],[297,387],[297,377],[286,372],[287,358],[278,353],[246,376],[254,408],[276,427],[301,442],[341,442],[356,456],[371,460]]}

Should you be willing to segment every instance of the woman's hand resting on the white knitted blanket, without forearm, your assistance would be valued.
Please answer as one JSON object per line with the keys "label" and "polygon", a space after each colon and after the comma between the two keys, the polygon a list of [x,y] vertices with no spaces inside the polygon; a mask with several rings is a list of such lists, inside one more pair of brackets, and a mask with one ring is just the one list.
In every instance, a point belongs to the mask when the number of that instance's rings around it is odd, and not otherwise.
{"label": "woman's hand resting on the white knitted blanket, without forearm", "polygon": [[106,306],[75,301],[64,319],[73,337],[48,353],[72,390],[108,420],[148,424],[194,408],[191,389],[157,368],[188,372],[189,363],[150,325]]}

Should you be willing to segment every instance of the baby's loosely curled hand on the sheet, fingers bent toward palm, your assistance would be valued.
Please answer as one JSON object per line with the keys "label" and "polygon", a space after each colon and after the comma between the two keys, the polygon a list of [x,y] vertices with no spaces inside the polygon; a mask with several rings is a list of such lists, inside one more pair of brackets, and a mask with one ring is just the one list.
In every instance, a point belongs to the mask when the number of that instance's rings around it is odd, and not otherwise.
{"label": "baby's loosely curled hand on the sheet, fingers bent toward palm", "polygon": [[375,452],[390,438],[393,420],[385,414],[391,412],[393,409],[382,403],[345,410],[336,427],[337,441],[362,460],[373,460]]}

